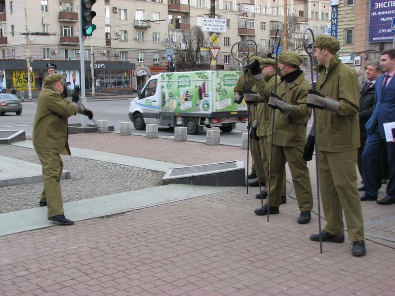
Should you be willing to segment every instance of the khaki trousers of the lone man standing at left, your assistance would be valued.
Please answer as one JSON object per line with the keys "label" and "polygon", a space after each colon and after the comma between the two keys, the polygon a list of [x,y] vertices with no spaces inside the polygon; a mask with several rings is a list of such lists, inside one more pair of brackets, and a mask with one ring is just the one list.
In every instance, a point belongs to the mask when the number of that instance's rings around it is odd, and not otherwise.
{"label": "khaki trousers of the lone man standing at left", "polygon": [[44,189],[40,200],[48,206],[48,218],[63,215],[62,193],[60,178],[63,171],[63,162],[60,155],[55,152],[37,152],[42,166],[42,179]]}

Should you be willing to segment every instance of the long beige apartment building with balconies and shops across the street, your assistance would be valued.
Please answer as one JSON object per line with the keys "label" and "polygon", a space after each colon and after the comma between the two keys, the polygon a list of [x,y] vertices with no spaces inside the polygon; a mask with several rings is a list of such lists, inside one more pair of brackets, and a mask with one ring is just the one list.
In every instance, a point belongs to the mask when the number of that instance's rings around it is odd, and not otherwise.
{"label": "long beige apartment building with balconies and shops across the street", "polygon": [[[27,26],[32,89],[41,89],[49,61],[71,81],[71,87],[83,77],[86,88],[90,88],[91,48],[97,70],[95,83],[100,89],[122,93],[140,88],[150,76],[166,71],[166,48],[182,47],[183,32],[202,26],[210,14],[210,0],[97,1],[92,7],[97,13],[93,19],[97,29],[92,37],[85,38],[82,53],[78,9],[79,0],[0,0],[0,70],[4,86],[26,88],[27,42],[21,33]],[[303,31],[310,27],[315,34],[325,33],[329,11],[329,1],[288,0],[288,50],[305,54]],[[216,46],[221,48],[217,64],[225,70],[237,70],[239,65],[231,55],[233,44],[253,39],[259,52],[267,53],[269,39],[277,28],[283,28],[284,0],[216,0],[215,17],[227,21],[227,32],[217,33]],[[206,46],[212,46],[208,41],[211,34],[204,32]],[[79,73],[80,59],[86,61],[84,74]],[[173,59],[177,67],[177,56],[173,55]],[[202,57],[201,63],[206,62],[207,58]],[[307,56],[304,66],[308,66]]]}

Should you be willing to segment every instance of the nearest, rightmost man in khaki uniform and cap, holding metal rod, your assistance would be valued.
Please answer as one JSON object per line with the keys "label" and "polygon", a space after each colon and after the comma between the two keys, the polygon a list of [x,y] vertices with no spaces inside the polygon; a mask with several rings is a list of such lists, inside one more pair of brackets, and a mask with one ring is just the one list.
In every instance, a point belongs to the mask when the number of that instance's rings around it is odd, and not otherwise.
{"label": "nearest, rightmost man in khaki uniform and cap, holding metal rod", "polygon": [[[316,108],[319,190],[326,225],[323,242],[344,241],[343,214],[354,256],[366,254],[363,218],[356,190],[356,158],[359,141],[359,88],[355,72],[345,66],[336,52],[339,41],[328,35],[316,37],[314,56],[318,66],[316,90],[307,103]],[[310,236],[319,241],[319,234]]]}

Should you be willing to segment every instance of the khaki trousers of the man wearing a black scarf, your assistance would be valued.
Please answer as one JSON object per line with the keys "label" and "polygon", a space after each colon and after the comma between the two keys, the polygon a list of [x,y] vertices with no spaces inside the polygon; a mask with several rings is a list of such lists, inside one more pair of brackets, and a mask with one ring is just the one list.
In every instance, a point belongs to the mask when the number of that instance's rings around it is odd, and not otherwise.
{"label": "khaki trousers of the man wearing a black scarf", "polygon": [[310,184],[310,173],[303,160],[303,147],[283,147],[273,145],[273,164],[270,174],[271,192],[270,204],[266,198],[266,205],[279,207],[281,203],[282,180],[285,175],[285,163],[288,162],[292,175],[292,184],[301,212],[313,209],[313,194]]}

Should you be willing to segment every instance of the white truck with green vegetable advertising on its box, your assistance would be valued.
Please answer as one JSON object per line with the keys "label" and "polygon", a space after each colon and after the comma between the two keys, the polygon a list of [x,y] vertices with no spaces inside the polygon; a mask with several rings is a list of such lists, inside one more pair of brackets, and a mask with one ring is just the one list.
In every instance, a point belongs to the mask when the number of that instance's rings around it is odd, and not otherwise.
{"label": "white truck with green vegetable advertising on its box", "polygon": [[233,88],[240,71],[161,73],[152,76],[130,102],[129,118],[135,129],[146,124],[186,126],[188,134],[218,126],[231,132],[247,121],[247,107],[234,102]]}

